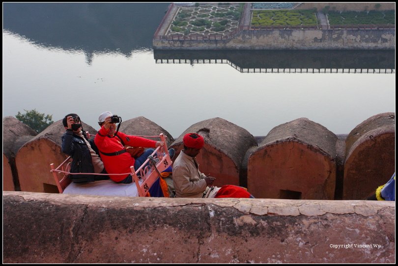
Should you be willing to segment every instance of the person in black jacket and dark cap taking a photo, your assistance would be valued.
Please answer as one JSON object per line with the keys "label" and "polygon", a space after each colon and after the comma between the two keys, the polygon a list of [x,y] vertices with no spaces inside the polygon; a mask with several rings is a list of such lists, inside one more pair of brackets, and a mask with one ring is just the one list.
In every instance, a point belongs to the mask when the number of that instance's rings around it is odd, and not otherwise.
{"label": "person in black jacket and dark cap taking a photo", "polygon": [[[89,140],[82,130],[78,115],[69,114],[62,119],[66,132],[62,136],[62,152],[72,157],[71,173],[106,173],[93,140]],[[76,183],[109,179],[100,175],[70,175]]]}

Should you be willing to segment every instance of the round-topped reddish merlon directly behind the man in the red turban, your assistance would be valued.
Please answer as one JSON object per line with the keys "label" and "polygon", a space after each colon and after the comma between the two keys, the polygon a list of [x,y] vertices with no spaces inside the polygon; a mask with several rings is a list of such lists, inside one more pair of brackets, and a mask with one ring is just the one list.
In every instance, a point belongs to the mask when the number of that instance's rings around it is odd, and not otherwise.
{"label": "round-topped reddish merlon directly behind the man in the red turban", "polygon": [[216,177],[216,186],[240,184],[239,173],[246,151],[257,146],[253,135],[222,118],[200,121],[185,130],[171,145],[176,150],[175,158],[184,148],[182,139],[187,133],[198,133],[204,138],[204,147],[197,156],[200,172]]}

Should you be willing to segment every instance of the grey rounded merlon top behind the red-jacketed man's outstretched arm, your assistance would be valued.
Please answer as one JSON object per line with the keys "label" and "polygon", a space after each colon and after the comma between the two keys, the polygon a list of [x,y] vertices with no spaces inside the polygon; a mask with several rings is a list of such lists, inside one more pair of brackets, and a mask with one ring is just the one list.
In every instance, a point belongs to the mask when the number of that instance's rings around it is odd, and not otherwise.
{"label": "grey rounded merlon top behind the red-jacketed man's outstretched arm", "polygon": [[[160,125],[152,122],[151,120],[138,117],[132,118],[127,121],[122,121],[122,124],[119,129],[121,132],[126,133],[128,135],[135,136],[158,136],[160,133],[163,133],[167,137],[167,145],[171,145],[174,141],[173,137]],[[155,141],[159,141],[159,138],[147,138]]]}

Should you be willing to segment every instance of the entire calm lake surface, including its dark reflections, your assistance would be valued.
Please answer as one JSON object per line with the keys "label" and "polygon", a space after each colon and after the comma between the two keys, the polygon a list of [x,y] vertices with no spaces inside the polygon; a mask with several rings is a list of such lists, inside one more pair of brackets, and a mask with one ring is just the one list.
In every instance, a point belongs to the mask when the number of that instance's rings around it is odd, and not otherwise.
{"label": "entire calm lake surface, including its dark reflections", "polygon": [[176,138],[215,117],[255,136],[301,117],[347,134],[373,115],[395,112],[395,70],[241,72],[395,68],[394,51],[154,54],[152,36],[167,6],[4,3],[3,117],[24,109],[52,114],[55,121],[78,113],[98,128],[99,114],[111,111],[123,120],[144,116]]}

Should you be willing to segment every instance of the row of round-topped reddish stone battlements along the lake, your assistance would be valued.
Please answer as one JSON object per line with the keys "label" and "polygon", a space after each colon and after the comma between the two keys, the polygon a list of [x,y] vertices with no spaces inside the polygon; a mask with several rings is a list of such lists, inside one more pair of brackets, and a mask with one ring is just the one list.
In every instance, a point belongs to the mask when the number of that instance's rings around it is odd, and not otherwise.
{"label": "row of round-topped reddish stone battlements along the lake", "polygon": [[[137,126],[148,130],[141,134],[168,135],[146,118],[128,120],[125,132],[138,132],[132,130]],[[57,121],[19,149],[16,165],[22,191],[57,193],[50,163],[60,164],[66,158],[60,151],[63,132]],[[204,148],[197,156],[202,173],[216,177],[217,186],[248,187],[256,198],[363,200],[395,171],[394,113],[375,115],[349,135],[339,136],[298,118],[255,138],[238,125],[212,118],[191,125],[171,144],[176,156],[187,132],[204,137]],[[3,171],[10,179],[7,173]]]}

